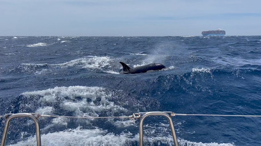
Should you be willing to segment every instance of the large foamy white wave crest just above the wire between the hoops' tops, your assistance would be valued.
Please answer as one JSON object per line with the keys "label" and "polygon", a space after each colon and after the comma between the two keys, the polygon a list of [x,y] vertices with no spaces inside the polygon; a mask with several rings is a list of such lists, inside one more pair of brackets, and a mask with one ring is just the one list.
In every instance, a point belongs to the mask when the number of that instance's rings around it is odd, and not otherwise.
{"label": "large foamy white wave crest just above the wire between the hoops' tops", "polygon": [[[112,112],[111,115],[114,115],[113,111],[122,111],[124,113],[126,109],[116,106],[109,101],[112,98],[111,92],[106,88],[86,86],[55,87],[53,89],[25,92],[21,95],[29,103],[20,110],[21,112],[42,111],[56,114],[58,110],[62,109],[67,112],[73,112],[74,116],[87,117],[97,117],[98,113],[101,112],[106,112],[107,114]],[[37,98],[37,100],[29,101],[32,98]],[[37,107],[36,105],[41,106]]]}

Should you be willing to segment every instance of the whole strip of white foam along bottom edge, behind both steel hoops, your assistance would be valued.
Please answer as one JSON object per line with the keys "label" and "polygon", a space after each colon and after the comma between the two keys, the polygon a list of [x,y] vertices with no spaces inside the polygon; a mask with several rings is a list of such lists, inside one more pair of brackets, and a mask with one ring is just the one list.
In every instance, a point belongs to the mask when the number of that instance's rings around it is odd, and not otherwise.
{"label": "whole strip of white foam along bottom edge, behind both steel hoops", "polygon": [[[60,146],[60,145],[114,145],[114,146],[127,146],[137,145],[139,135],[132,136],[133,133],[123,132],[121,134],[108,133],[103,129],[67,129],[60,132],[48,133],[41,135],[42,145],[45,146]],[[183,139],[178,139],[179,145],[181,146],[233,146],[230,143],[202,143],[202,142],[191,142]],[[20,141],[17,144],[10,144],[9,146],[27,146],[35,145],[36,137],[30,137],[25,141]],[[174,145],[173,138],[171,136],[166,137],[144,137],[143,145]]]}

